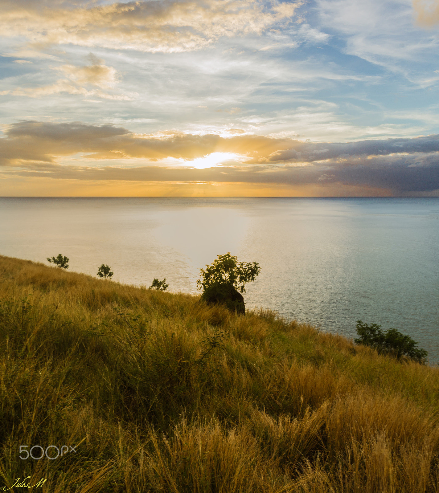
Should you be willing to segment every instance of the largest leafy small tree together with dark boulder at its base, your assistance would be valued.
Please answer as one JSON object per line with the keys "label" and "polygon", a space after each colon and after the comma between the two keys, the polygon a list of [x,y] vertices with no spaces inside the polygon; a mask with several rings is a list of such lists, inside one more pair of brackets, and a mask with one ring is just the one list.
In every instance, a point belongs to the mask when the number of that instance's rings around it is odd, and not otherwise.
{"label": "largest leafy small tree together with dark boulder at its base", "polygon": [[257,262],[238,262],[238,258],[230,252],[218,255],[218,258],[206,269],[200,269],[198,289],[202,289],[201,298],[210,303],[224,302],[229,309],[245,313],[244,285],[253,282],[259,274]]}

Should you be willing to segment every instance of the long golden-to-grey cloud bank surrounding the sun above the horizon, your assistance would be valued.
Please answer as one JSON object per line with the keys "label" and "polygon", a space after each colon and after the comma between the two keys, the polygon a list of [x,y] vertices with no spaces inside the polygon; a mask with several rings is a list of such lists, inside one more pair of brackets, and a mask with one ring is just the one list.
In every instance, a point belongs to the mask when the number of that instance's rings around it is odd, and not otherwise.
{"label": "long golden-to-grey cloud bank surrounding the sun above the horizon", "polygon": [[[9,176],[321,187],[340,183],[391,190],[396,195],[439,189],[439,135],[348,143],[309,142],[251,135],[223,138],[176,131],[134,134],[111,125],[34,121],[10,125],[4,134],[6,137],[0,139],[1,165],[2,173]],[[248,159],[233,166],[184,167],[185,161],[213,152],[234,153]],[[64,165],[62,156],[76,156],[79,162]],[[181,166],[167,166],[169,158],[181,160]],[[140,166],[139,159],[143,160]],[[109,165],[109,160],[115,164]]]}

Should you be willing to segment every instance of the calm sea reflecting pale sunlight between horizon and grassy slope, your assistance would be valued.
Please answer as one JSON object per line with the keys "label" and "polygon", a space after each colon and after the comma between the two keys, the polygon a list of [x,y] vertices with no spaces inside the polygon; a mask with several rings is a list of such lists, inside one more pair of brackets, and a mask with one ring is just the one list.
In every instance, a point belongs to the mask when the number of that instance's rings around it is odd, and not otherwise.
{"label": "calm sea reflecting pale sunlight between horizon and grassy slope", "polygon": [[439,360],[439,198],[0,198],[0,253],[196,292],[230,251],[256,261],[248,308],[355,336],[397,328]]}

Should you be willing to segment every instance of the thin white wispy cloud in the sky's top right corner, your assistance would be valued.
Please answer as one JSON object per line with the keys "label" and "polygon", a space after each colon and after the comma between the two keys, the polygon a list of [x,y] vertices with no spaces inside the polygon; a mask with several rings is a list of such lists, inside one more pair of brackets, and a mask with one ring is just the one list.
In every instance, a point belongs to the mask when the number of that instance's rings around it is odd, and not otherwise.
{"label": "thin white wispy cloud in the sky's top right corner", "polygon": [[331,30],[339,38],[342,52],[379,65],[420,87],[428,83],[431,66],[436,65],[438,37],[421,31],[419,26],[437,22],[437,0],[315,1],[321,29]]}

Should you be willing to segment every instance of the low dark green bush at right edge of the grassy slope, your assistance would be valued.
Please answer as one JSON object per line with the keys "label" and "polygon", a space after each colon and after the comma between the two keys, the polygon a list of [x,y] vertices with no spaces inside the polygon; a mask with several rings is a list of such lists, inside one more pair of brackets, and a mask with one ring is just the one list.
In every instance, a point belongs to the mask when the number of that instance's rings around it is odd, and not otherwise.
{"label": "low dark green bush at right edge of the grassy slope", "polygon": [[421,364],[426,362],[428,352],[425,349],[416,348],[418,342],[397,329],[390,328],[383,332],[381,325],[376,323],[368,325],[357,320],[357,334],[360,337],[354,339],[355,343],[375,348],[379,353],[390,353],[397,359],[407,356]]}

